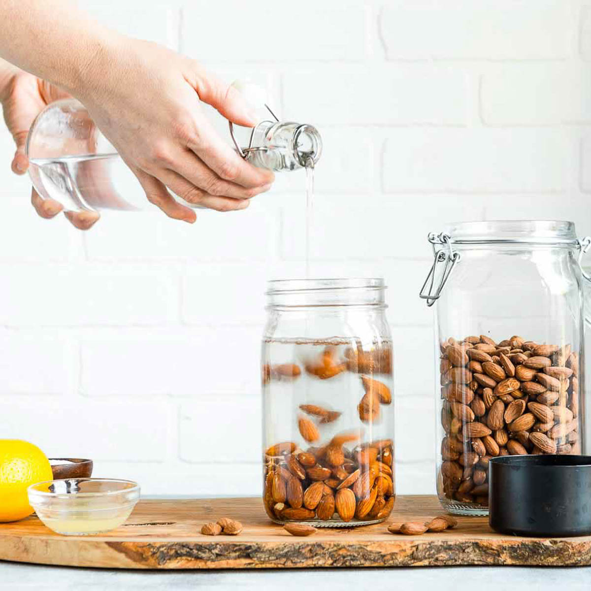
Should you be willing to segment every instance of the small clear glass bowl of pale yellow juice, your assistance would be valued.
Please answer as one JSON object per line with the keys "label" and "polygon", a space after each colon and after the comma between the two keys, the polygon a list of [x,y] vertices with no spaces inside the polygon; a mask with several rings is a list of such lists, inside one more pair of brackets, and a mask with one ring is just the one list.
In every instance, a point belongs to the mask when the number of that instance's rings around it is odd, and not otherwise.
{"label": "small clear glass bowl of pale yellow juice", "polygon": [[29,503],[48,528],[63,535],[93,535],[119,527],[139,499],[131,480],[67,478],[27,489]]}

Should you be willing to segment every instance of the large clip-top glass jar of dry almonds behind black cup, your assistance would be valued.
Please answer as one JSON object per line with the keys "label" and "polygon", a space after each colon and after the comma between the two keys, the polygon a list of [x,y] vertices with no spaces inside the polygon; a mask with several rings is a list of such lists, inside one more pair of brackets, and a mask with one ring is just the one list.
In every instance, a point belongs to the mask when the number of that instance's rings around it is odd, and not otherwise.
{"label": "large clip-top glass jar of dry almonds behind black cup", "polygon": [[430,235],[437,493],[488,512],[488,461],[576,454],[583,437],[583,282],[571,222],[470,222]]}

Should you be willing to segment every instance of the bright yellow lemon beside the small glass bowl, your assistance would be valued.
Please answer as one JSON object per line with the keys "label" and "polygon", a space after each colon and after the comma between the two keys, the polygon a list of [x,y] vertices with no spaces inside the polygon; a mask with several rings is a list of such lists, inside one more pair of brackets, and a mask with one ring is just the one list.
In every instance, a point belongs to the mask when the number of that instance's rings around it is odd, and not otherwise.
{"label": "bright yellow lemon beside the small glass bowl", "polygon": [[31,515],[27,486],[52,479],[49,460],[37,446],[20,439],[0,439],[0,521]]}

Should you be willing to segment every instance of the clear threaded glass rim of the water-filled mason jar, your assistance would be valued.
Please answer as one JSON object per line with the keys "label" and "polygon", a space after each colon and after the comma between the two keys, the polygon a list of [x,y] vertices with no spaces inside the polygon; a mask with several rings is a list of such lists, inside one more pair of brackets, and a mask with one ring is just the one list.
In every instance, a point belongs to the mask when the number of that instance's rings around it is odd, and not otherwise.
{"label": "clear threaded glass rim of the water-filled mason jar", "polygon": [[268,282],[269,307],[385,307],[382,278],[288,279]]}

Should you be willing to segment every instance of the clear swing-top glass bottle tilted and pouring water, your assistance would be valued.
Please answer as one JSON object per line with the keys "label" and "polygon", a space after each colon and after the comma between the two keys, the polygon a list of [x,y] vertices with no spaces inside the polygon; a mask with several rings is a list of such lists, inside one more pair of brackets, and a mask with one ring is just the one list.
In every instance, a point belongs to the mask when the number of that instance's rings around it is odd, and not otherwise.
{"label": "clear swing-top glass bottle tilted and pouring water", "polygon": [[[311,125],[263,120],[253,129],[242,129],[249,134],[248,147],[238,145],[230,124],[232,139],[242,157],[259,168],[295,170],[315,164],[322,152],[320,134]],[[56,101],[39,113],[26,150],[35,190],[43,199],[61,203],[66,211],[154,207],[85,106],[75,99]]]}

